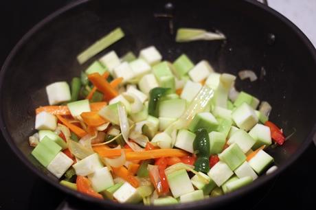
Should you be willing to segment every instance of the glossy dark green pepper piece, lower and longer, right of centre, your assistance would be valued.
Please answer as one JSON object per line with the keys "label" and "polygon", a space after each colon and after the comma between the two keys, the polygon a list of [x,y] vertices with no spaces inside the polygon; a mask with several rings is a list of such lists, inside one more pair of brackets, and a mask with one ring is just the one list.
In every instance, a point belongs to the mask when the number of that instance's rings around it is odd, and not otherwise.
{"label": "glossy dark green pepper piece, lower and longer, right of centre", "polygon": [[210,170],[210,139],[205,128],[199,128],[195,134],[196,137],[193,141],[193,149],[197,155],[194,163],[195,170],[207,173]]}

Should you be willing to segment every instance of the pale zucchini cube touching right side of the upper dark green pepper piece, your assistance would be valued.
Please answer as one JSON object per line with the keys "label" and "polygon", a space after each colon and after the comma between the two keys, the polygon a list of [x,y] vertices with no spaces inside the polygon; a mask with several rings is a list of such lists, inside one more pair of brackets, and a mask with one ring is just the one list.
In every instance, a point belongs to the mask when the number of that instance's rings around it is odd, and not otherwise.
{"label": "pale zucchini cube touching right side of the upper dark green pepper piece", "polygon": [[185,100],[164,100],[159,102],[159,117],[179,118],[185,112],[185,108]]}

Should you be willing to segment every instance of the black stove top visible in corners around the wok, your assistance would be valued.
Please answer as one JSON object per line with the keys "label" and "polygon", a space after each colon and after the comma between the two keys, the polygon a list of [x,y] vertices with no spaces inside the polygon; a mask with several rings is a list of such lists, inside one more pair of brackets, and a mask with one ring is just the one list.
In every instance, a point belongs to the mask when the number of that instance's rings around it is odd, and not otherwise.
{"label": "black stove top visible in corners around the wok", "polygon": [[[65,0],[0,1],[0,64],[30,27],[65,3]],[[67,209],[69,203],[76,209],[98,209],[38,178],[19,161],[1,135],[0,160],[3,168],[0,209]],[[316,147],[311,144],[278,178],[227,204],[225,209],[316,209],[315,163]]]}

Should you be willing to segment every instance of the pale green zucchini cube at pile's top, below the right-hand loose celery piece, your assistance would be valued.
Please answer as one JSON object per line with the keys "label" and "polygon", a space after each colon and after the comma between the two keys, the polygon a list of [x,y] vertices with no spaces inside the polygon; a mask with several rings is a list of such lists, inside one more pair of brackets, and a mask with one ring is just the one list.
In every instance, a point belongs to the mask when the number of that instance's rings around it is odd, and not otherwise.
{"label": "pale green zucchini cube at pile's top, below the right-hand loose celery piece", "polygon": [[182,54],[173,62],[172,67],[174,75],[176,75],[177,78],[181,78],[194,67],[194,64],[188,56]]}

